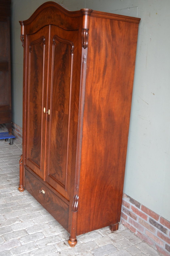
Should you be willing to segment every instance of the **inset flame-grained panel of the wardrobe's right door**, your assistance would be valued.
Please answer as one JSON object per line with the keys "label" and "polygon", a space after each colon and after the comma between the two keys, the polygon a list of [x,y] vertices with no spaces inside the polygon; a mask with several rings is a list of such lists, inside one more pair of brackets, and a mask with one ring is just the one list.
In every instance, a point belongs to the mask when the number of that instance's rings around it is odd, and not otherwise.
{"label": "inset flame-grained panel of the wardrobe's right door", "polygon": [[51,104],[51,124],[56,125],[51,129],[49,175],[66,189],[74,46],[71,41],[57,36],[54,36],[53,42],[52,94],[55,100]]}

